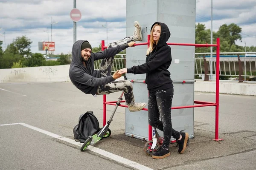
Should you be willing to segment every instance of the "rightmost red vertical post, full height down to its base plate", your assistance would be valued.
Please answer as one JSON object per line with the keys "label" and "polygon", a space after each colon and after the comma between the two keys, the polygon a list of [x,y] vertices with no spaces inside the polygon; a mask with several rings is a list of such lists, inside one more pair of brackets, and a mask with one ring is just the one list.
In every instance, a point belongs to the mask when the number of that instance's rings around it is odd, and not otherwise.
{"label": "rightmost red vertical post, full height down to its base plate", "polygon": [[224,139],[218,139],[218,117],[219,117],[219,82],[220,82],[220,38],[217,38],[217,49],[216,49],[216,107],[215,107],[215,141]]}

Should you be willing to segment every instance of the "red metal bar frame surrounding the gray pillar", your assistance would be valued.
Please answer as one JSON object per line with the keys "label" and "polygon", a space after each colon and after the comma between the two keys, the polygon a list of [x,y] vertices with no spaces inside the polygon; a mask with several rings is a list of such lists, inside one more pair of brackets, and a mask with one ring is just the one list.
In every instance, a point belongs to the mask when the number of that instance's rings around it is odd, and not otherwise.
{"label": "red metal bar frame surrounding the gray pillar", "polygon": [[[186,44],[186,43],[167,43],[168,45],[183,45],[183,46],[195,46],[198,47],[216,47],[216,96],[215,96],[215,103],[212,102],[202,102],[202,101],[194,101],[192,106],[180,106],[180,107],[172,107],[171,109],[184,109],[184,108],[198,108],[198,107],[207,107],[207,106],[215,106],[215,141],[221,141],[224,139],[218,138],[218,117],[219,117],[219,62],[220,62],[220,39],[217,38],[216,44]],[[136,43],[134,46],[137,45],[150,45],[150,35],[148,35],[148,42],[143,43]],[[102,51],[107,48],[105,46],[105,41],[102,40]],[[107,102],[106,95],[103,95],[103,126],[106,125],[106,114],[107,114],[107,105],[116,105],[117,101]],[[125,102],[122,100],[121,102]],[[120,107],[128,108],[127,105],[119,105]],[[147,108],[143,108],[142,110],[148,111]],[[148,140],[152,140],[152,127],[148,125]]]}

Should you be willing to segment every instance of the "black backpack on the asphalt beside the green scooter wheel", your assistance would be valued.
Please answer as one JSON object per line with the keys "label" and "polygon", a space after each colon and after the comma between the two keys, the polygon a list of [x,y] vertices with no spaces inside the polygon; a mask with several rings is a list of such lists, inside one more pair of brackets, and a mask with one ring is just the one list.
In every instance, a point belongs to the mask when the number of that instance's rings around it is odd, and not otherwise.
{"label": "black backpack on the asphalt beside the green scooter wheel", "polygon": [[93,111],[87,111],[79,117],[79,123],[73,129],[74,139],[84,143],[88,136],[99,132],[99,121]]}

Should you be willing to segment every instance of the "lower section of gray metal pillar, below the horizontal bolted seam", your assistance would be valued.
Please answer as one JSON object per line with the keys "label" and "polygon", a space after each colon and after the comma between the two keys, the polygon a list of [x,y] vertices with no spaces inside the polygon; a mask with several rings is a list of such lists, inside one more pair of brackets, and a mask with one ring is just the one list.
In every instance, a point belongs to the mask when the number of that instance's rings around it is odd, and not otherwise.
{"label": "lower section of gray metal pillar, below the horizontal bolted seam", "polygon": [[[189,106],[194,103],[193,83],[173,83],[174,96],[172,107]],[[134,82],[134,96],[136,102],[148,102],[147,85]],[[175,130],[186,130],[189,137],[194,137],[194,108],[172,110],[172,126]],[[158,130],[161,136],[163,133]],[[137,139],[148,140],[148,112],[130,112],[125,108],[125,135],[134,136]]]}

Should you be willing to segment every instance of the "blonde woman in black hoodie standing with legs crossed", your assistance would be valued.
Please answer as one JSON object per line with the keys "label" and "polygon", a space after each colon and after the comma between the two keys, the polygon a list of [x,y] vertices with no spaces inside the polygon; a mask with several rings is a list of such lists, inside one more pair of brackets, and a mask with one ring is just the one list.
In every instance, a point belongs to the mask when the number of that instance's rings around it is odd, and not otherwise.
{"label": "blonde woman in black hoodie standing with legs crossed", "polygon": [[[188,133],[172,129],[171,108],[173,84],[168,71],[172,62],[171,47],[167,45],[171,33],[165,23],[156,22],[151,26],[150,46],[146,62],[142,65],[119,70],[119,74],[145,74],[148,86],[148,123],[163,131],[163,145],[153,154],[154,159],[170,156],[169,143],[173,136],[179,144],[179,153],[184,153]],[[160,121],[161,117],[161,121]]]}

